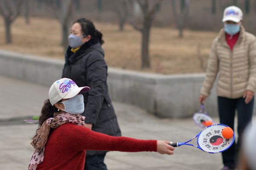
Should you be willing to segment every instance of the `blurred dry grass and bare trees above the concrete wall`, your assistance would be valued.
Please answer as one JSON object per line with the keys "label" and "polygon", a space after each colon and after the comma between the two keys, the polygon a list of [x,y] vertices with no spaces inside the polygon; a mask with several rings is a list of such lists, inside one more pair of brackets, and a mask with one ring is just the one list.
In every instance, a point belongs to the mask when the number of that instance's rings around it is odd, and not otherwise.
{"label": "blurred dry grass and bare trees above the concrete wall", "polygon": [[224,8],[256,33],[256,0],[0,0],[0,49],[64,59],[73,21],[103,33],[109,66],[161,74],[204,72]]}

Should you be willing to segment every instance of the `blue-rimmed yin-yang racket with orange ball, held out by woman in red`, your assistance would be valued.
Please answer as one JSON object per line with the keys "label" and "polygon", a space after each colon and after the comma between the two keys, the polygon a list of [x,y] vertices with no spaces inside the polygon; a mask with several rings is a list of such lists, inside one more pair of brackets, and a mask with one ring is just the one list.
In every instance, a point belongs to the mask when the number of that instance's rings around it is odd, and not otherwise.
{"label": "blue-rimmed yin-yang racket with orange ball, held out by woman in red", "polygon": [[[197,146],[188,142],[197,138]],[[235,134],[227,125],[214,124],[205,127],[197,136],[184,143],[171,143],[173,147],[189,145],[203,150],[207,153],[220,153],[227,150],[234,142]]]}

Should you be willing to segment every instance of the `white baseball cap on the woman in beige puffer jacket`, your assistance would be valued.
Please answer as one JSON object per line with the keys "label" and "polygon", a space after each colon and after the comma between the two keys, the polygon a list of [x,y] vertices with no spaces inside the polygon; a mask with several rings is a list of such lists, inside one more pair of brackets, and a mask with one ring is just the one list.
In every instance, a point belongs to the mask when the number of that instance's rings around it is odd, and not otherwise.
{"label": "white baseball cap on the woman in beige puffer jacket", "polygon": [[222,22],[233,21],[239,23],[243,19],[243,12],[237,6],[228,6],[223,13]]}

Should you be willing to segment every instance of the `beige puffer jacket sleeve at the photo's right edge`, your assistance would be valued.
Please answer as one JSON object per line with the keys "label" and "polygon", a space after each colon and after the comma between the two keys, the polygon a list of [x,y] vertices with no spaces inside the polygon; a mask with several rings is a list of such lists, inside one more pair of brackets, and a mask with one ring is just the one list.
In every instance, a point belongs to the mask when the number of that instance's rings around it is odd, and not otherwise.
{"label": "beige puffer jacket sleeve at the photo's right edge", "polygon": [[246,90],[255,92],[256,88],[256,38],[254,37],[253,42],[249,46],[249,80],[247,83]]}

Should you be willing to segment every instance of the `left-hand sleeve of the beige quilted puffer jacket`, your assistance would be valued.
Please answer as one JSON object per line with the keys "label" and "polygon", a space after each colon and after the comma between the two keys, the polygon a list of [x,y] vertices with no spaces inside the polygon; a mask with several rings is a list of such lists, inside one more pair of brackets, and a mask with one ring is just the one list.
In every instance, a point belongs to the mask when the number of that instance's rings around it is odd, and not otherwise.
{"label": "left-hand sleeve of the beige quilted puffer jacket", "polygon": [[216,49],[217,40],[212,43],[211,53],[209,56],[209,61],[206,69],[206,76],[204,79],[203,86],[201,88],[201,95],[209,96],[212,89],[212,85],[216,79],[218,73],[218,56]]}

